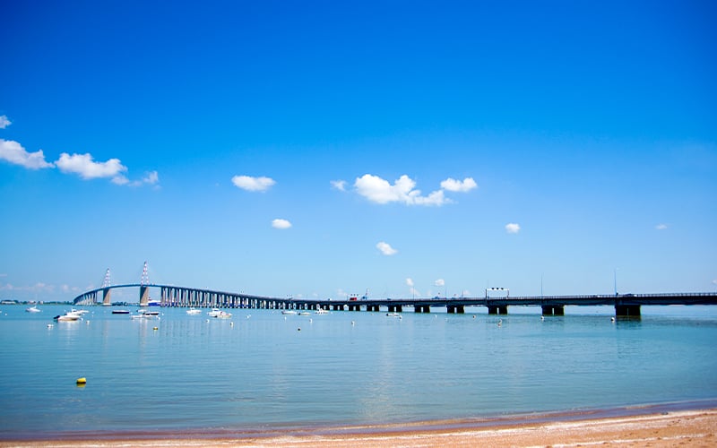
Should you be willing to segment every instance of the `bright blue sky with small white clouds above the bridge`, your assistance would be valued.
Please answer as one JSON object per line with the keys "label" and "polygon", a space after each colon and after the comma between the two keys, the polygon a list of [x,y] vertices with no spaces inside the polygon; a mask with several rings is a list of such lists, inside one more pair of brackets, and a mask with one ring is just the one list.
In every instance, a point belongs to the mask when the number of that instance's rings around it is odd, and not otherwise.
{"label": "bright blue sky with small white clouds above the bridge", "polygon": [[0,11],[0,298],[717,289],[714,2]]}

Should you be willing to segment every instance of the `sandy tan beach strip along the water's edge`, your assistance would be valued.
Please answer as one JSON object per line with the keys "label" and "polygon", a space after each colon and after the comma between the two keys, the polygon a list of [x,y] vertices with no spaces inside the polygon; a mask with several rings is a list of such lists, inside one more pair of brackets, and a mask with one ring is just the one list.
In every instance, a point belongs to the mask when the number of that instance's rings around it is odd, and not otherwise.
{"label": "sandy tan beach strip along the water's edge", "polygon": [[717,409],[606,418],[532,416],[235,434],[63,435],[58,440],[0,441],[0,447],[417,447],[417,446],[717,446]]}

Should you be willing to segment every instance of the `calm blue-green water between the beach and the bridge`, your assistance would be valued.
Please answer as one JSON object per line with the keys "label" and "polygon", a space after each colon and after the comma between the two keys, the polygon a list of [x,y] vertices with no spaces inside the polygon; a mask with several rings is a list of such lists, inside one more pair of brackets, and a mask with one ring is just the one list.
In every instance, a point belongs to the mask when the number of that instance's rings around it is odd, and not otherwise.
{"label": "calm blue-green water between the beach and the bridge", "polygon": [[545,321],[540,308],[520,307],[402,319],[229,310],[232,319],[208,321],[205,309],[154,308],[159,320],[132,320],[96,306],[75,323],[52,321],[69,306],[40,308],[0,306],[0,438],[717,399],[717,309],[707,306],[644,307],[642,320],[616,323],[611,307],[568,307]]}

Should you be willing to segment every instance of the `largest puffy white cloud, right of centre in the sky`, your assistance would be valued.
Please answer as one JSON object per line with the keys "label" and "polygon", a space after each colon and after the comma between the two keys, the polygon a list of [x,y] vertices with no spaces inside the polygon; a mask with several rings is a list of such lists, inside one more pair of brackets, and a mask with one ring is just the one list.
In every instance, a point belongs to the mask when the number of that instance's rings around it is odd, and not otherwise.
{"label": "largest puffy white cloud, right of centre in the sky", "polygon": [[364,196],[371,202],[389,203],[402,202],[407,205],[443,205],[451,200],[445,198],[443,190],[436,190],[421,196],[420,190],[414,190],[416,182],[410,177],[403,175],[391,185],[381,177],[365,174],[358,177],[354,183],[358,194]]}

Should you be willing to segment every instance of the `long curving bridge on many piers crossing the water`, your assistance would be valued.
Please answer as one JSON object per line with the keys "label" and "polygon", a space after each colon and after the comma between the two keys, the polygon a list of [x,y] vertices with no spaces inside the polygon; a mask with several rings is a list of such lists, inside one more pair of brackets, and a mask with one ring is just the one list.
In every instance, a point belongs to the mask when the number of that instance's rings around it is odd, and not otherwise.
{"label": "long curving bridge on many piers crossing the water", "polygon": [[673,294],[619,294],[592,296],[526,296],[526,297],[454,297],[454,298],[370,298],[360,300],[263,297],[243,293],[195,289],[158,284],[126,284],[91,289],[73,300],[75,305],[97,305],[102,292],[102,305],[111,305],[112,289],[139,288],[140,306],[150,304],[149,289],[160,289],[160,306],[262,308],[333,311],[402,312],[412,307],[416,313],[430,313],[431,307],[444,307],[449,314],[465,313],[466,306],[485,306],[488,314],[507,314],[508,306],[540,306],[543,315],[564,315],[565,306],[615,306],[618,316],[639,316],[640,306],[717,305],[717,292]]}

